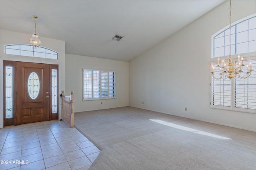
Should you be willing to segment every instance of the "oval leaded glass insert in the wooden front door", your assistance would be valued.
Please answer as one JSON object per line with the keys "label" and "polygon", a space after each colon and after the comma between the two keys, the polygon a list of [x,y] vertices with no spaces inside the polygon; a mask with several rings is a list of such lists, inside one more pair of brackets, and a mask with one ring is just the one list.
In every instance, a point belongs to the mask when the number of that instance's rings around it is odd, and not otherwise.
{"label": "oval leaded glass insert in the wooden front door", "polygon": [[28,76],[28,96],[34,100],[38,97],[40,91],[40,79],[36,72],[31,72]]}

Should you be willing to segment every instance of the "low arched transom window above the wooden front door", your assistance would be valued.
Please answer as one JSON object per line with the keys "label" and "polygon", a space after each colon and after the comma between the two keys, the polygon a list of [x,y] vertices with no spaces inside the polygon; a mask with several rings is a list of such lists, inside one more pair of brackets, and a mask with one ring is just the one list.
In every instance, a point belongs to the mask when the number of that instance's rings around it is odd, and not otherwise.
{"label": "low arched transom window above the wooden front door", "polygon": [[58,52],[42,46],[38,49],[35,49],[35,48],[32,48],[30,44],[5,45],[4,53],[11,54],[11,55],[39,57],[39,58],[45,58],[45,59],[58,59]]}

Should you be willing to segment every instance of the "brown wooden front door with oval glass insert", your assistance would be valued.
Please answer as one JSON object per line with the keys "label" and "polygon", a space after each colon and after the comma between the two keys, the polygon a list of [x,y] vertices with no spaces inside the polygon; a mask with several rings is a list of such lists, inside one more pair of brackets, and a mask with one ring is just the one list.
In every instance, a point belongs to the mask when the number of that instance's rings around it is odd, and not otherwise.
{"label": "brown wooden front door with oval glass insert", "polygon": [[16,62],[16,125],[50,120],[50,65]]}

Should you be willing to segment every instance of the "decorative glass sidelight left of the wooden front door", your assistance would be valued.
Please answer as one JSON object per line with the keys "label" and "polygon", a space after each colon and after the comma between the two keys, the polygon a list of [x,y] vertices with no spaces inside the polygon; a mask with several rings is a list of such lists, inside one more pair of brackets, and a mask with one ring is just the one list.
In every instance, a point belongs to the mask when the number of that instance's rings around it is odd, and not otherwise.
{"label": "decorative glass sidelight left of the wooden front door", "polygon": [[5,118],[13,118],[13,66],[5,66]]}

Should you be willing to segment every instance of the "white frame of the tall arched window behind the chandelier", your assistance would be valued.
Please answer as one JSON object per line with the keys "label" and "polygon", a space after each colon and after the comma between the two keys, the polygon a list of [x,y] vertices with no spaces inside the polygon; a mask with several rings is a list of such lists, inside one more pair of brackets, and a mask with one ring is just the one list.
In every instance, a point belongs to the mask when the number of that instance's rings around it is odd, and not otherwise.
{"label": "white frame of the tall arched window behind the chandelier", "polygon": [[[250,16],[247,16],[241,20],[238,20],[234,23],[232,23],[231,26],[233,25],[236,25],[242,21],[245,21],[245,20],[248,20],[252,17],[255,17],[256,14],[252,14]],[[218,62],[218,58],[220,58],[220,61],[222,59],[224,59],[226,62],[228,61],[228,56],[223,56],[223,57],[214,57],[214,37],[218,34],[220,34],[221,32],[225,31],[227,28],[229,27],[226,26],[224,27],[223,29],[221,29],[220,31],[216,32],[214,35],[212,35],[212,55],[211,55],[211,63],[210,65],[212,64],[216,64]],[[236,55],[233,55],[231,56],[232,57],[232,61],[238,61],[238,57],[237,57],[238,54]],[[243,58],[244,58],[244,61],[247,61],[247,60],[256,60],[256,52],[250,52],[250,53],[243,53],[243,54],[240,54]],[[252,72],[252,74],[256,74],[256,69],[253,69],[254,71]],[[213,96],[212,96],[212,74],[210,74],[210,107],[211,108],[215,108],[215,109],[224,109],[224,110],[231,110],[231,111],[240,111],[240,112],[247,112],[247,113],[256,113],[256,109],[247,109],[247,108],[240,108],[240,107],[235,107],[235,82],[234,82],[234,78],[232,78],[230,80],[231,82],[231,98],[230,98],[230,102],[231,102],[231,105],[230,106],[218,106],[218,105],[213,105],[212,103],[212,99],[213,99]]]}

